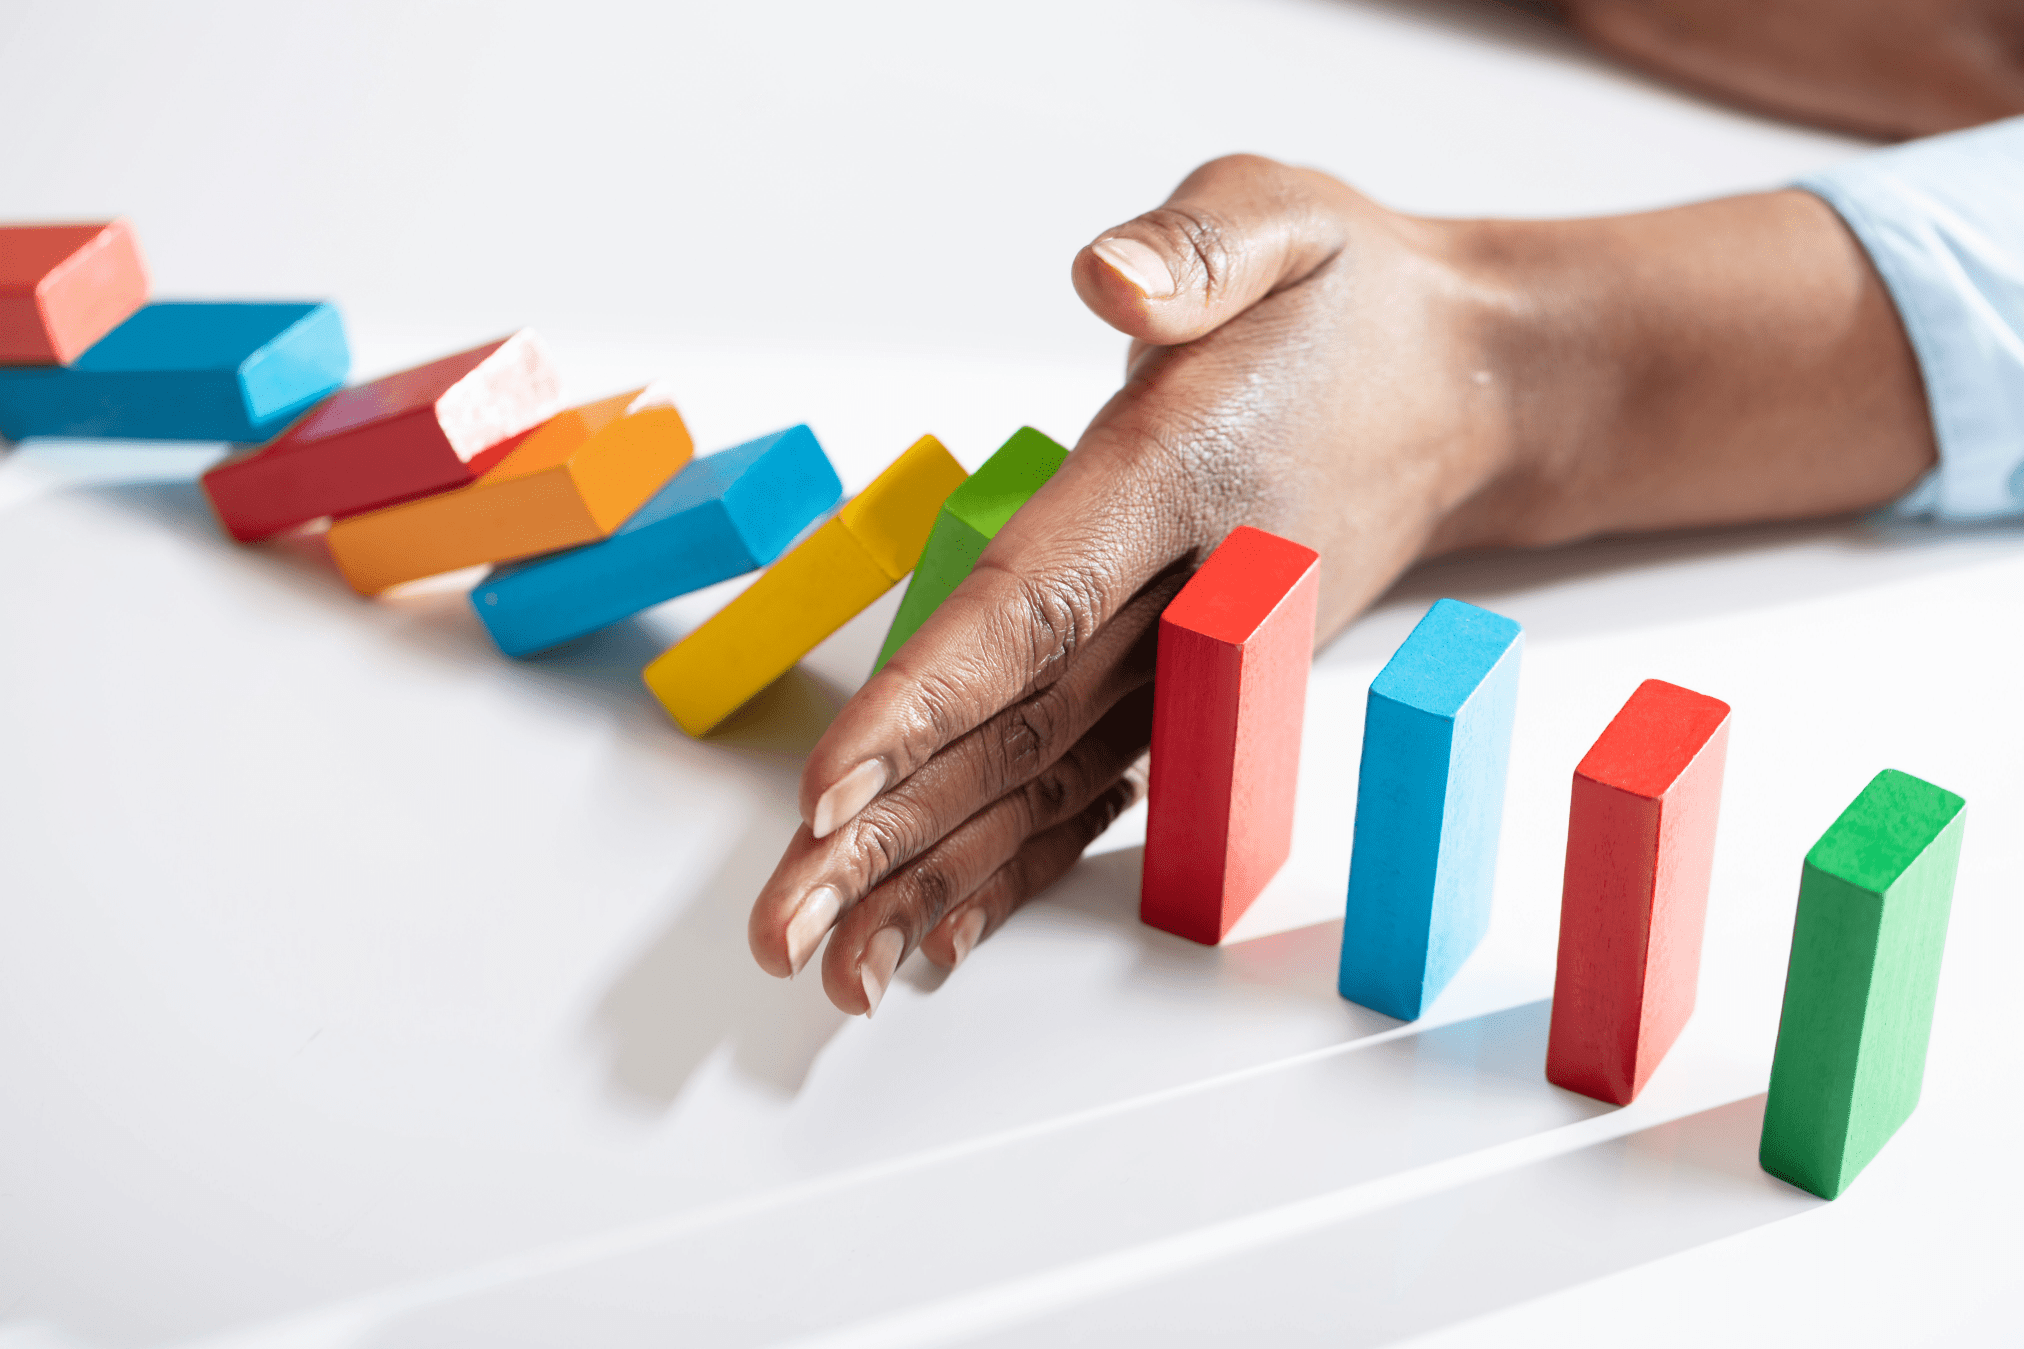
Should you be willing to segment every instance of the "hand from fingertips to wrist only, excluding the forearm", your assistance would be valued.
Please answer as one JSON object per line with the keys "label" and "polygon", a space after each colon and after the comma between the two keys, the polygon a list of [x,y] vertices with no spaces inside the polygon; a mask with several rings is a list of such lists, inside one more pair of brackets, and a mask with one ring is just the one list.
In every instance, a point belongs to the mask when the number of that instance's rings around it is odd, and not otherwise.
{"label": "hand from fingertips to wrist only, excluding the forearm", "polygon": [[816,746],[753,908],[767,971],[836,920],[824,985],[868,1011],[1061,876],[1142,791],[1160,611],[1239,524],[1322,552],[1324,635],[1421,552],[1508,421],[1451,233],[1233,158],[1077,255],[1127,382]]}

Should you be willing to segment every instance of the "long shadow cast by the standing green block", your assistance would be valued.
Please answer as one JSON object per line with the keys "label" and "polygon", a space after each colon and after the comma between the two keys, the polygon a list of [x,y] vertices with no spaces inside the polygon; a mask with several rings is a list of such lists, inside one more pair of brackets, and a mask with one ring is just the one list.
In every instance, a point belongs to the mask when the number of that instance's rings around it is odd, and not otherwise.
{"label": "long shadow cast by the standing green block", "polygon": [[[1356,1347],[1437,1331],[1820,1207],[1757,1167],[1763,1100],[1176,1268],[959,1343]],[[1233,1288],[1243,1296],[1225,1296]]]}

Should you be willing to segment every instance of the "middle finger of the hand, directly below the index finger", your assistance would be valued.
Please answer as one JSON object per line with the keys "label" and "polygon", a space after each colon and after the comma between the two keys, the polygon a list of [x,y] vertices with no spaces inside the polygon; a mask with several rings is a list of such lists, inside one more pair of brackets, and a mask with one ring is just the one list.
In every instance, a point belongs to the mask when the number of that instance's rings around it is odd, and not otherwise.
{"label": "middle finger of the hand, directly below the index finger", "polygon": [[[986,807],[1048,803],[1032,811],[1024,837],[1059,819],[1061,799],[1087,801],[1115,779],[1129,754],[1105,765],[1099,783],[1083,783],[1077,762],[1063,754],[1087,746],[1099,718],[1152,684],[1158,619],[1180,584],[1176,572],[1146,587],[1065,678],[957,738],[840,829],[822,839],[799,829],[753,904],[749,940],[759,965],[773,975],[799,971],[838,914]],[[935,902],[935,912],[945,904]]]}

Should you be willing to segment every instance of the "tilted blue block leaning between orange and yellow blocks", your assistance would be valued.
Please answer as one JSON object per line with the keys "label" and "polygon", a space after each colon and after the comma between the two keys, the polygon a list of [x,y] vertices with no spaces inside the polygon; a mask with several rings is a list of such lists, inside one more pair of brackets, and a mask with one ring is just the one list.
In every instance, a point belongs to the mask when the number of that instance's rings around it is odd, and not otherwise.
{"label": "tilted blue block leaning between orange and yellow blocks", "polygon": [[769,564],[842,496],[814,431],[775,431],[694,459],[611,538],[494,568],[472,605],[500,651],[532,655]]}

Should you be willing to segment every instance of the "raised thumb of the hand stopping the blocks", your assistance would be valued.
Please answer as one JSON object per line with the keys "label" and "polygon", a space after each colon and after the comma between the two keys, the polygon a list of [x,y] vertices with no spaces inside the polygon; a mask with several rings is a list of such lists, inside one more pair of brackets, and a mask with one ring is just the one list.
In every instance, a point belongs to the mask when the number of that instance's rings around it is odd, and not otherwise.
{"label": "raised thumb of the hand stopping the blocks", "polygon": [[1111,328],[1192,342],[1342,251],[1346,188],[1257,156],[1212,160],[1158,210],[1075,255],[1075,293]]}

